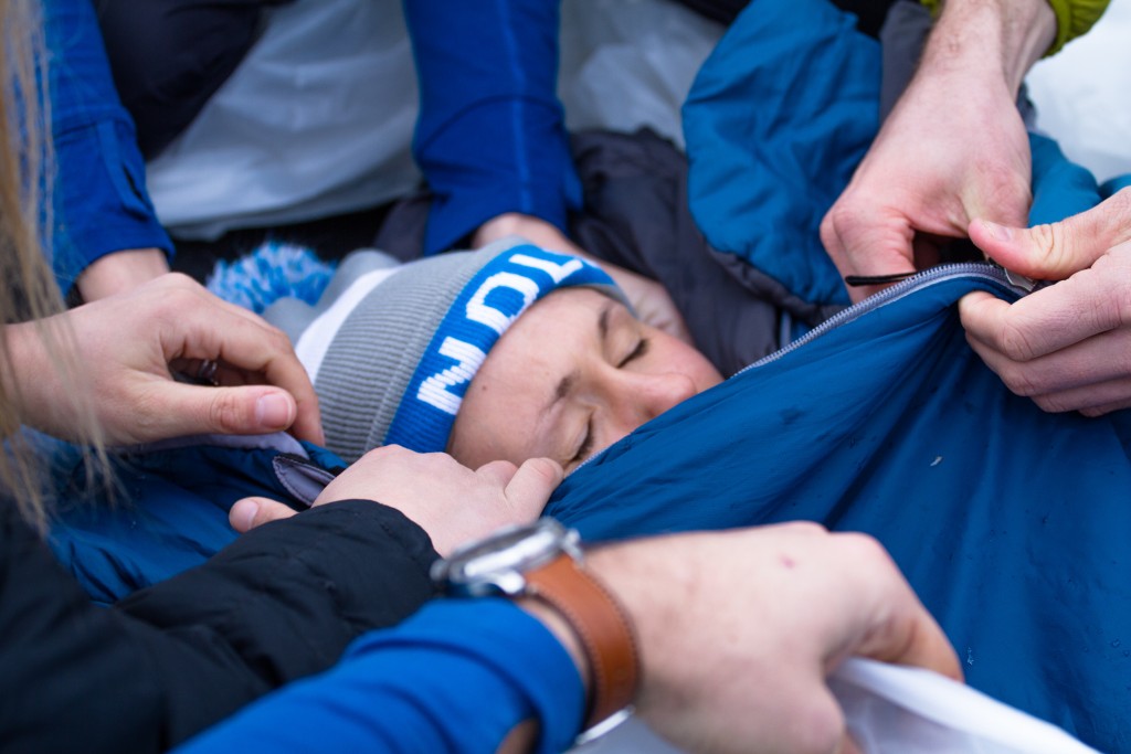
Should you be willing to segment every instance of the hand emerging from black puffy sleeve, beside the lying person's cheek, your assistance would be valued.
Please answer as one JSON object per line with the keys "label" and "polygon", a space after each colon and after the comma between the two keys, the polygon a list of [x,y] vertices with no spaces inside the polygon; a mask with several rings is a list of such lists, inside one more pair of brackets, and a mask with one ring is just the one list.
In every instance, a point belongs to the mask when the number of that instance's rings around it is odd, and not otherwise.
{"label": "hand emerging from black puffy sleeve, beside the lying person's cheek", "polygon": [[[386,445],[365,453],[326,486],[314,505],[339,500],[374,500],[396,508],[428,531],[432,546],[449,555],[510,523],[529,523],[561,484],[562,468],[549,458],[516,467],[493,461],[472,470],[447,453],[414,453]],[[228,513],[241,534],[295,511],[265,497],[238,501]]]}

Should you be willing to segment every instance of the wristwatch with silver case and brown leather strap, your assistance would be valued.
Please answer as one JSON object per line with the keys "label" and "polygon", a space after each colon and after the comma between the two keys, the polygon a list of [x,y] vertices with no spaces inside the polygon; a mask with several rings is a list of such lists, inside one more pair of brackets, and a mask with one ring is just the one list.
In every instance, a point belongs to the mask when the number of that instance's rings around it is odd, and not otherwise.
{"label": "wristwatch with silver case and brown leather strap", "polygon": [[437,561],[432,580],[450,596],[539,599],[566,619],[593,678],[584,738],[631,713],[640,677],[636,634],[624,609],[585,569],[576,529],[549,518],[506,527]]}

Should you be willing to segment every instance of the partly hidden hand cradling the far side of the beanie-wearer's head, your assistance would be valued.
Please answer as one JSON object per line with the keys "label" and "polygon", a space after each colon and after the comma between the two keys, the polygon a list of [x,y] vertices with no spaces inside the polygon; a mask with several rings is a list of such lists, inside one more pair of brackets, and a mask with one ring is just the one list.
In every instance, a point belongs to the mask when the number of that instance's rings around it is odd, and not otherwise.
{"label": "partly hidden hand cradling the far side of the beanie-wearer's head", "polygon": [[694,345],[680,310],[675,307],[675,302],[672,301],[672,296],[668,295],[664,286],[623,267],[592,257],[562,235],[561,231],[543,219],[512,213],[500,215],[480,227],[475,237],[472,239],[472,245],[475,248],[484,246],[508,235],[519,235],[542,249],[573,254],[599,266],[624,292],[637,317],[642,322],[657,330],[663,330],[683,343]]}

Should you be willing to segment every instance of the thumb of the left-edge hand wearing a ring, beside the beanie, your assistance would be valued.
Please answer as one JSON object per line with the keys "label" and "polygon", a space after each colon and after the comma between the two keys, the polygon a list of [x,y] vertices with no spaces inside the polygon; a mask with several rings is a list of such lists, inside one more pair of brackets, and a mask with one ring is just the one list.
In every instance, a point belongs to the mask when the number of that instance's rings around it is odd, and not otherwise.
{"label": "thumb of the left-edge hand wearing a ring, beside the beanie", "polygon": [[294,398],[267,385],[213,388],[174,382],[164,389],[165,434],[267,434],[282,432],[299,414]]}

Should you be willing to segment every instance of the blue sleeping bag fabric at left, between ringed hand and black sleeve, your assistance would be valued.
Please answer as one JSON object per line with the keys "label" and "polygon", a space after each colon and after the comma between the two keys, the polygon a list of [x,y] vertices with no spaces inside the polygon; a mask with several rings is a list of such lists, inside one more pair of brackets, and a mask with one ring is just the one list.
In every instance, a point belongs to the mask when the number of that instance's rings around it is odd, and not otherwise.
{"label": "blue sleeping bag fabric at left, between ringed hand and black sleeve", "polygon": [[[344,462],[303,443],[313,466],[337,473]],[[97,603],[112,604],[204,563],[236,538],[232,503],[262,495],[305,508],[280,482],[279,451],[196,444],[137,453],[114,463],[112,487],[59,511],[48,544]],[[85,484],[81,459],[61,474],[63,487]]]}

